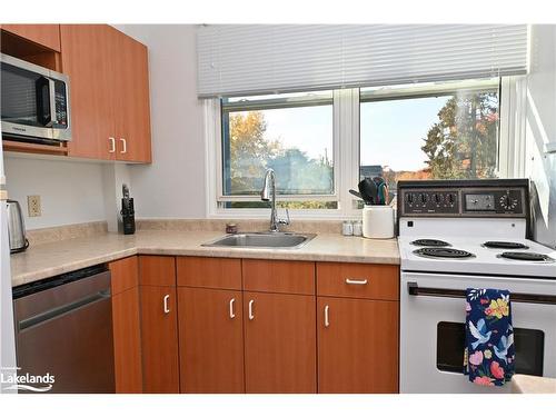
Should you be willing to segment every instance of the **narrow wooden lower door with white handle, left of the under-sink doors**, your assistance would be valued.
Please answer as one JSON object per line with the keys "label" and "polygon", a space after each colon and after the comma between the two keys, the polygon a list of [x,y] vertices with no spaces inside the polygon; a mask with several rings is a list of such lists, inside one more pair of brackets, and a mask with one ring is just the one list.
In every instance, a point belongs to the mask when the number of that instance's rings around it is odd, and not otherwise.
{"label": "narrow wooden lower door with white handle, left of the under-sink doors", "polygon": [[176,287],[141,286],[143,391],[179,393]]}

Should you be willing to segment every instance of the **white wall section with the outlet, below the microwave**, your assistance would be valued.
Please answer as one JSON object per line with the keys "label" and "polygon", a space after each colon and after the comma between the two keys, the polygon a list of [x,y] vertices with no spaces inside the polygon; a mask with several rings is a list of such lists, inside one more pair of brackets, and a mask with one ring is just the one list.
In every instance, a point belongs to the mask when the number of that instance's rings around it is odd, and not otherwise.
{"label": "white wall section with the outlet, below the microwave", "polygon": [[[101,163],[4,156],[8,196],[18,200],[26,228],[105,220]],[[27,196],[41,196],[42,216],[29,217]]]}

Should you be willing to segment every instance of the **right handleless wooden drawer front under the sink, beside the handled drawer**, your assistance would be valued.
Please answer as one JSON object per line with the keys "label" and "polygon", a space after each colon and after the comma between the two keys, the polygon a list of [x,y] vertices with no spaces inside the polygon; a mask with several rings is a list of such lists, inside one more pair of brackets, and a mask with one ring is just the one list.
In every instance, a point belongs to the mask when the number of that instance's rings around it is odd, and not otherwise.
{"label": "right handleless wooden drawer front under the sink, beside the handled drawer", "polygon": [[244,259],[247,291],[315,295],[315,262]]}

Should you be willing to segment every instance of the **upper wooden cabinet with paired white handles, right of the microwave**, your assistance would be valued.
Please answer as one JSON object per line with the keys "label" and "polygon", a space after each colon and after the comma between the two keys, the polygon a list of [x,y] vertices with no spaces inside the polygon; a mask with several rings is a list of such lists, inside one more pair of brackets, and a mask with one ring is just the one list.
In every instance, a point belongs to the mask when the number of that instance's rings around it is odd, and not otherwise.
{"label": "upper wooden cabinet with paired white handles, right of the microwave", "polygon": [[150,162],[147,48],[107,24],[61,24],[72,157]]}

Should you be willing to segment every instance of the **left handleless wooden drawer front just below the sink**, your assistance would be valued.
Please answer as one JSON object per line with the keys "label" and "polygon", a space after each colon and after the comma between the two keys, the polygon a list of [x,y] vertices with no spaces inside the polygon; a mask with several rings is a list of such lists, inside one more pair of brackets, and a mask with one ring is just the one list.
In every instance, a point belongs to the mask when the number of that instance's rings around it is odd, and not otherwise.
{"label": "left handleless wooden drawer front just below the sink", "polygon": [[241,289],[241,260],[178,257],[178,286]]}

